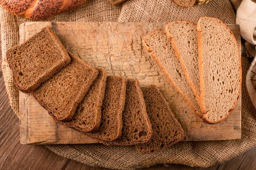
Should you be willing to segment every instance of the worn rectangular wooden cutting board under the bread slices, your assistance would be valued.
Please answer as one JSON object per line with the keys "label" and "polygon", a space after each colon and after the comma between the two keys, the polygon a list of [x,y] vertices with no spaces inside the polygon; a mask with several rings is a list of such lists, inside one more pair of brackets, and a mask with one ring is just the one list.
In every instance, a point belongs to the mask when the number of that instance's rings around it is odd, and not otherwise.
{"label": "worn rectangular wooden cutting board under the bread slices", "polygon": [[[141,86],[157,85],[184,129],[184,141],[241,137],[241,99],[225,121],[214,125],[203,123],[151,60],[142,46],[141,37],[162,29],[164,23],[26,22],[20,25],[20,43],[44,26],[51,26],[65,48],[86,63],[105,68],[109,75],[136,78]],[[240,49],[239,26],[228,26]],[[57,124],[32,94],[20,92],[20,143],[85,144],[100,141]]]}

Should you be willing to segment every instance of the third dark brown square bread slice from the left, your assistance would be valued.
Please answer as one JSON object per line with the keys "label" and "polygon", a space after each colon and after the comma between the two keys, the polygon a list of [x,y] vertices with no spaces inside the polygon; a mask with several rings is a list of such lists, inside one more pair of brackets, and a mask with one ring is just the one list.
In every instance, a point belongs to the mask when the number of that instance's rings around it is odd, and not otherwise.
{"label": "third dark brown square bread slice from the left", "polygon": [[82,102],[77,106],[72,120],[57,121],[58,123],[83,132],[94,132],[99,129],[108,72],[103,68],[97,68],[97,70],[99,72],[98,77],[94,80]]}

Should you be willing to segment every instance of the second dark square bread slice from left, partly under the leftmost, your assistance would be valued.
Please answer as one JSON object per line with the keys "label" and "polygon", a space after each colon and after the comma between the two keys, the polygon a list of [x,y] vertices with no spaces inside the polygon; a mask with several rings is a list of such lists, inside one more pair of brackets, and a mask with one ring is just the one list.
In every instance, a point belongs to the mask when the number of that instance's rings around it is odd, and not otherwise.
{"label": "second dark square bread slice from left, partly under the leftmost", "polygon": [[76,107],[98,75],[96,68],[71,53],[69,55],[70,64],[34,91],[37,102],[59,121],[72,119]]}

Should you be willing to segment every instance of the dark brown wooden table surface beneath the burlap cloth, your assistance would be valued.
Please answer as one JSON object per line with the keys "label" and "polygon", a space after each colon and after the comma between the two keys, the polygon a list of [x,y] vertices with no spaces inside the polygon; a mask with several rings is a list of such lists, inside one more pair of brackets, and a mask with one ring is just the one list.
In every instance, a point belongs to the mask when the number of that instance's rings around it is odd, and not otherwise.
{"label": "dark brown wooden table surface beneath the burlap cloth", "polygon": [[[0,46],[1,47],[1,46]],[[0,56],[0,64],[2,58]],[[255,170],[256,147],[209,168],[183,165],[153,166],[145,170]],[[19,119],[11,109],[0,68],[0,170],[101,170],[56,155],[43,145],[21,145]]]}

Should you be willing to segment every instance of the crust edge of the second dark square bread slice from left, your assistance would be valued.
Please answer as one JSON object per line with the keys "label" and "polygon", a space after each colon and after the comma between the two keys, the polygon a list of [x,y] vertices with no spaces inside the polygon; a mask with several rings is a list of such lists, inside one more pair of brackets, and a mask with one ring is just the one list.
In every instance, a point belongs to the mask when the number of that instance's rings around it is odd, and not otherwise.
{"label": "crust edge of the second dark square bread slice from left", "polygon": [[[83,62],[80,58],[76,57],[75,55],[73,55],[72,53],[69,53],[68,54],[71,56],[71,57],[74,57],[76,58],[77,60],[80,60],[81,62]],[[58,121],[70,121],[76,111],[76,108],[78,106],[78,104],[83,100],[83,97],[86,95],[87,91],[89,90],[90,86],[92,85],[93,81],[97,78],[97,75],[98,75],[98,71],[96,68],[93,68],[92,66],[86,64],[85,62],[83,62],[83,64],[86,66],[86,67],[89,67],[94,73],[92,73],[91,77],[88,78],[90,80],[90,82],[88,82],[88,84],[86,84],[85,86],[83,86],[81,88],[81,91],[77,94],[77,97],[76,99],[74,100],[74,103],[73,103],[73,106],[70,108],[69,110],[69,113],[67,114],[66,117],[63,117],[63,118],[59,118],[59,117],[55,117],[52,113],[51,113],[51,110],[49,110],[47,108],[47,105],[43,102],[41,102],[39,99],[37,99],[37,97],[34,95],[34,98],[36,99],[36,101],[43,107],[45,108],[49,115],[54,117],[54,119],[58,120]]]}

